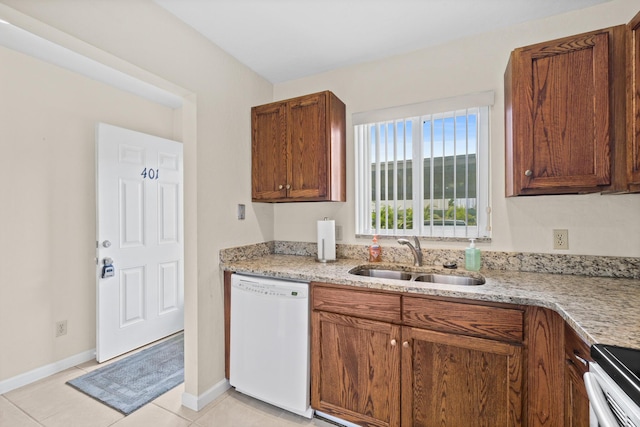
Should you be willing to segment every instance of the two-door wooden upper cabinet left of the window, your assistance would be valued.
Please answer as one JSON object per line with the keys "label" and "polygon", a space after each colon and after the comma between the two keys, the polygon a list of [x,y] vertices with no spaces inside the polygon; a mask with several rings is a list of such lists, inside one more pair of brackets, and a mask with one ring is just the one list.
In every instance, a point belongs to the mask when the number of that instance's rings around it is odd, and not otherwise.
{"label": "two-door wooden upper cabinet left of the window", "polygon": [[329,91],[253,107],[253,201],[345,201],[345,110]]}

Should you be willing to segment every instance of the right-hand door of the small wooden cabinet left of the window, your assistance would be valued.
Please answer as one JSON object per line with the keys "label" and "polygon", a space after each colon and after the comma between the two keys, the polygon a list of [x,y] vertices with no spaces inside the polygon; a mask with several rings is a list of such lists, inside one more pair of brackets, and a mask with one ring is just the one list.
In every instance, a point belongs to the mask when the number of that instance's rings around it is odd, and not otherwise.
{"label": "right-hand door of the small wooden cabinet left of the window", "polygon": [[327,196],[328,135],[326,94],[295,98],[287,103],[287,183],[290,198]]}

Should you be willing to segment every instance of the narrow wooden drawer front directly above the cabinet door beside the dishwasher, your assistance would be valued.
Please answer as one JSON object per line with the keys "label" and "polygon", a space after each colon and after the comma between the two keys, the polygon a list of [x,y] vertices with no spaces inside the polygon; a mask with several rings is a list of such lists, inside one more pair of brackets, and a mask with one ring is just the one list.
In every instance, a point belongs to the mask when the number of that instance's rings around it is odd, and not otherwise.
{"label": "narrow wooden drawer front directly above the cabinet door beside the dishwasher", "polygon": [[400,295],[314,286],[314,310],[400,323]]}

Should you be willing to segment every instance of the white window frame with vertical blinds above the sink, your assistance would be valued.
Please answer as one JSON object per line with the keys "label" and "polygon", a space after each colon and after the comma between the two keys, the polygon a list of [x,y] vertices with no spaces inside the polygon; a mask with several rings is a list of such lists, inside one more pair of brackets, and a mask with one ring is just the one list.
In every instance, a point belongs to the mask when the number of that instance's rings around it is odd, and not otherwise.
{"label": "white window frame with vertical blinds above the sink", "polygon": [[[490,114],[491,114],[491,106],[493,105],[494,93],[493,91],[489,92],[481,92],[477,94],[464,95],[455,98],[449,98],[445,100],[436,100],[436,101],[428,101],[420,104],[412,104],[408,106],[400,106],[393,107],[384,110],[376,110],[371,112],[357,113],[353,115],[353,126],[354,126],[354,141],[355,141],[355,189],[356,189],[356,209],[355,209],[355,223],[356,223],[356,236],[370,236],[373,234],[380,236],[407,236],[407,235],[417,235],[421,238],[426,239],[434,239],[434,240],[461,240],[467,241],[469,238],[480,239],[483,241],[488,241],[491,239],[491,199],[490,199]],[[475,105],[474,105],[475,104]],[[456,113],[460,111],[466,111],[465,116],[468,117],[468,111],[477,112],[478,121],[477,121],[477,151],[475,153],[476,158],[476,226],[469,226],[465,222],[465,225],[437,225],[434,222],[430,222],[430,224],[425,225],[424,208],[426,203],[428,202],[431,207],[431,214],[429,217],[433,217],[433,209],[434,209],[434,195],[432,191],[429,191],[430,199],[424,199],[424,170],[425,166],[422,163],[425,159],[423,156],[423,144],[424,144],[424,136],[423,136],[423,126],[425,123],[425,119],[436,120],[438,118],[444,117],[453,117],[454,123],[456,122],[455,117],[459,117]],[[415,114],[415,113],[419,114]],[[412,114],[414,113],[414,114]],[[409,199],[406,192],[406,187],[403,191],[403,199],[397,199],[397,186],[399,178],[393,179],[393,199],[386,199],[386,202],[380,200],[380,197],[377,196],[376,200],[371,199],[371,185],[372,185],[372,153],[370,150],[372,144],[372,136],[371,136],[371,125],[376,125],[377,129],[380,129],[380,126],[386,126],[389,128],[390,124],[393,124],[393,132],[394,132],[394,140],[396,132],[398,130],[398,122],[402,121],[411,121],[412,122],[412,141],[418,141],[418,143],[412,143],[412,154],[411,154],[411,162],[412,162],[412,195]],[[468,118],[465,119],[465,123],[468,124]],[[403,132],[406,132],[407,125],[404,124],[402,126]],[[433,131],[433,129],[432,129]],[[454,127],[454,133],[455,133]],[[468,131],[467,131],[468,132]],[[378,133],[379,137],[381,133]],[[385,136],[387,134],[385,133]],[[443,135],[443,142],[444,142]],[[465,143],[468,144],[469,137],[468,134],[465,136]],[[433,144],[432,141],[430,141]],[[394,142],[397,145],[397,142]],[[381,165],[382,162],[385,162],[386,159],[380,158],[380,146],[381,144],[377,144],[376,148],[378,152],[375,157],[375,164]],[[455,146],[455,144],[454,144]],[[395,147],[395,145],[394,145]],[[397,150],[397,147],[394,148]],[[404,152],[406,153],[406,146],[404,147]],[[433,145],[432,145],[433,150]],[[469,155],[469,148],[465,150],[465,156]],[[433,153],[433,151],[432,151]],[[455,159],[457,156],[454,151],[453,158]],[[447,155],[443,152],[441,157],[443,162]],[[431,174],[434,173],[434,165],[433,160],[434,156],[430,157],[430,168],[429,171]],[[397,151],[394,151],[393,155],[393,172],[394,174],[398,173],[398,158]],[[402,167],[403,178],[407,176],[407,157],[404,160],[405,164]],[[417,164],[420,162],[420,167],[413,167],[413,164]],[[387,163],[385,163],[386,166]],[[465,173],[468,170],[468,158],[465,162]],[[387,186],[387,190],[389,189],[389,181],[388,175],[387,179],[380,179],[382,167],[377,168],[376,173],[377,179],[376,181],[376,189],[375,194],[381,195],[381,185],[384,181],[384,185]],[[387,172],[388,173],[388,172]],[[397,176],[397,175],[396,175]],[[403,179],[403,182],[406,182],[406,179]],[[455,182],[455,181],[454,181]],[[419,185],[415,185],[418,183]],[[433,189],[434,186],[431,186]],[[465,187],[466,188],[466,187]],[[385,194],[387,192],[385,190]],[[454,195],[455,195],[455,189]],[[418,195],[416,197],[416,195]],[[454,196],[455,197],[455,196]],[[466,214],[469,212],[469,204],[468,197],[463,198],[466,199]],[[410,203],[406,203],[410,200]],[[448,203],[448,198],[443,197],[441,199],[437,199],[441,201],[442,205],[444,203]],[[461,198],[456,198],[456,200],[461,200]],[[394,227],[387,229],[381,228],[381,220],[380,215],[376,215],[376,224],[375,226],[371,225],[372,222],[372,210],[373,204],[375,203],[375,212],[381,212],[381,204],[387,204],[393,208],[393,224]],[[406,214],[406,209],[411,207],[413,213],[419,213],[418,222],[413,222],[413,228],[407,229],[406,223],[404,223],[403,228],[397,227],[397,218],[398,218],[398,207],[404,209]],[[445,220],[443,219],[443,222]],[[461,231],[461,229],[464,229]]]}

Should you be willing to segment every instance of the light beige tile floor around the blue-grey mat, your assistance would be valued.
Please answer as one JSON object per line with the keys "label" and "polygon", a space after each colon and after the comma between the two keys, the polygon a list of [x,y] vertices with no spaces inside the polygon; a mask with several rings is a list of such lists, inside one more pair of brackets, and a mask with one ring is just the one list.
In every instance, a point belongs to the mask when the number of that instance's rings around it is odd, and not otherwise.
{"label": "light beige tile floor around the blue-grey mat", "polygon": [[125,417],[65,384],[97,367],[88,362],[0,395],[0,427],[335,427],[233,389],[195,412],[181,404],[184,384]]}

